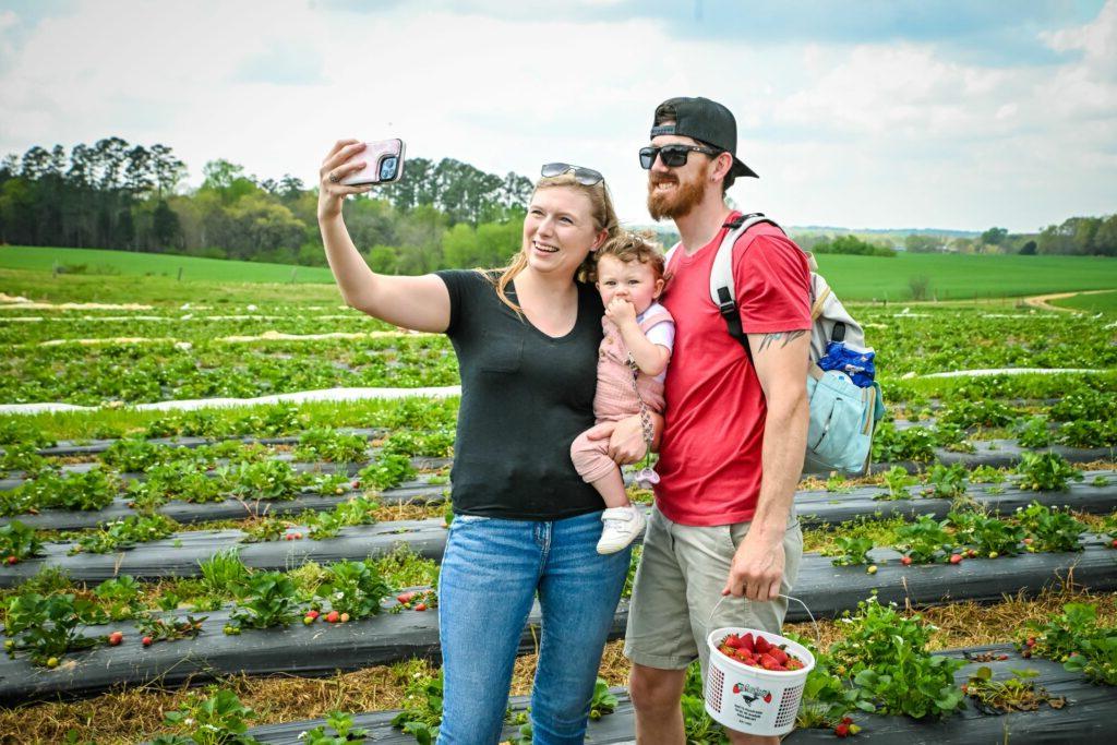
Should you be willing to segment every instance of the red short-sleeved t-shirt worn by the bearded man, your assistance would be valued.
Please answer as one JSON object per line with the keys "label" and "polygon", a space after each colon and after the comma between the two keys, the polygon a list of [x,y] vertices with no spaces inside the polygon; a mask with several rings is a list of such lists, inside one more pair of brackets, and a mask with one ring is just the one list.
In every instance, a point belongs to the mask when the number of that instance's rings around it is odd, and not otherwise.
{"label": "red short-sleeved t-shirt worn by the bearded man", "polygon": [[[660,300],[675,317],[676,335],[656,505],[684,525],[751,520],[760,496],[764,392],[709,297],[710,267],[726,232],[690,256],[675,251]],[[745,333],[809,331],[810,276],[806,256],[779,228],[752,228],[733,248]]]}

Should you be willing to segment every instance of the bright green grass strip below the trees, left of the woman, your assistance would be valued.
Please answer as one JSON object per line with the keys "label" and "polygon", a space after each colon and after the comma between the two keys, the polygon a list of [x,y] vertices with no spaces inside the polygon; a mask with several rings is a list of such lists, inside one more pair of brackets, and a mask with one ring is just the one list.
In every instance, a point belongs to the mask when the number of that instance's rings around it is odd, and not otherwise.
{"label": "bright green grass strip below the trees, left of the woman", "polygon": [[93,248],[0,247],[0,268],[50,271],[55,265],[85,265],[89,275],[162,276],[187,281],[231,283],[327,283],[334,278],[325,267],[295,267],[229,259],[202,259],[166,254],[137,254]]}

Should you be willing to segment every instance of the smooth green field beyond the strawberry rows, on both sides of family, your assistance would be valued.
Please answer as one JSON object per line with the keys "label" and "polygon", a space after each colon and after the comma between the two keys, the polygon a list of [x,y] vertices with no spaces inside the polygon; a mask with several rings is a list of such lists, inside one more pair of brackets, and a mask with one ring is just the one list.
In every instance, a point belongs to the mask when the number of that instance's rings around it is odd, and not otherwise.
{"label": "smooth green field beyond the strawberry rows, on both sides of family", "polygon": [[[85,265],[79,274],[67,274],[71,289],[85,285],[80,297],[67,299],[133,302],[166,299],[182,302],[199,296],[209,297],[204,283],[221,283],[213,292],[227,294],[231,287],[248,284],[273,284],[277,297],[285,295],[336,298],[333,277],[324,267],[294,267],[283,264],[256,264],[223,259],[202,259],[163,254],[134,254],[79,248],[0,248],[0,290],[48,298],[57,286],[50,270],[57,265]],[[911,299],[910,280],[926,277],[927,299],[965,300],[972,298],[1009,298],[1043,293],[1085,289],[1117,289],[1117,260],[1078,256],[958,256],[942,254],[900,254],[895,258],[866,256],[819,257],[823,275],[838,295],[846,300]],[[182,270],[179,281],[179,270]],[[292,288],[292,283],[303,285]],[[331,286],[313,287],[313,285]],[[283,289],[286,286],[287,289]],[[312,289],[313,287],[313,289]],[[247,288],[245,288],[247,289]],[[1086,296],[1090,298],[1091,296]],[[1114,299],[1095,296],[1082,298],[1091,303]],[[1076,300],[1078,302],[1078,300]],[[1069,306],[1079,307],[1079,306]],[[1100,308],[1099,308],[1100,309]]]}

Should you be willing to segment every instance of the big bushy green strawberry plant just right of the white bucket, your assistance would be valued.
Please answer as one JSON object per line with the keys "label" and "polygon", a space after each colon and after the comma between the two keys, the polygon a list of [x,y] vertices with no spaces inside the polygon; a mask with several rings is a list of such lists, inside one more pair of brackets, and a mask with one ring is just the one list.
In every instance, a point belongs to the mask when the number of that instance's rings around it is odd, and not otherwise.
{"label": "big bushy green strawberry plant just right of the white bucket", "polygon": [[964,708],[954,685],[954,672],[964,662],[925,651],[933,628],[920,615],[904,618],[895,604],[881,605],[872,596],[842,621],[844,634],[830,653],[839,674],[860,689],[858,708],[917,719]]}

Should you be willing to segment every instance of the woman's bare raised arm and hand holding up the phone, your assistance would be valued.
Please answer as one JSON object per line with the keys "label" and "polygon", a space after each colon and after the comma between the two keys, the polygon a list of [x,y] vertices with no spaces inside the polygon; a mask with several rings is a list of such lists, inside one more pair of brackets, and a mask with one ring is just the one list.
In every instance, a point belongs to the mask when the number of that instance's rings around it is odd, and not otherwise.
{"label": "woman's bare raised arm and hand holding up the phone", "polygon": [[361,170],[363,161],[344,164],[364,150],[357,140],[338,140],[318,171],[318,228],[326,247],[326,260],[351,307],[397,326],[414,331],[443,332],[450,325],[450,293],[435,275],[394,277],[378,275],[356,250],[342,219],[342,203],[349,194],[362,194],[372,184],[346,187],[340,183]]}

